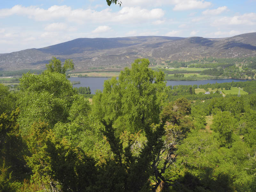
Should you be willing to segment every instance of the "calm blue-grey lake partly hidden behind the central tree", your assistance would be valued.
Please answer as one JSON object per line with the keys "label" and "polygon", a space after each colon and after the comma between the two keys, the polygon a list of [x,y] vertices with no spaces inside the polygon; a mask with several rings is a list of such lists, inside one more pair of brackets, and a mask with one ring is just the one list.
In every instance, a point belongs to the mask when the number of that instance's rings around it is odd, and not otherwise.
{"label": "calm blue-grey lake partly hidden behind the central tree", "polygon": [[[75,84],[73,87],[90,87],[92,94],[96,90],[103,90],[104,81],[109,78],[105,77],[70,77],[70,81],[80,81],[80,84]],[[204,85],[204,84],[214,84],[214,83],[230,83],[237,81],[248,81],[246,79],[209,79],[209,80],[200,80],[200,81],[167,81],[167,86],[174,85]],[[250,80],[249,80],[250,81]]]}

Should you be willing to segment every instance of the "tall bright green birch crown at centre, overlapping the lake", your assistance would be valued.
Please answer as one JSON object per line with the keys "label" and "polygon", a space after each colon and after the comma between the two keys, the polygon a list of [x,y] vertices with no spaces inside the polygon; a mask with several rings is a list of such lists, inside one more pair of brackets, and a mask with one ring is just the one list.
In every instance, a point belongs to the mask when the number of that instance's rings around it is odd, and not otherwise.
{"label": "tall bright green birch crown at centre, overlapping the lake", "polygon": [[138,132],[159,122],[164,99],[164,74],[148,68],[149,60],[137,59],[132,68],[121,71],[118,79],[104,83],[103,92],[93,97],[93,113],[113,121],[120,131]]}

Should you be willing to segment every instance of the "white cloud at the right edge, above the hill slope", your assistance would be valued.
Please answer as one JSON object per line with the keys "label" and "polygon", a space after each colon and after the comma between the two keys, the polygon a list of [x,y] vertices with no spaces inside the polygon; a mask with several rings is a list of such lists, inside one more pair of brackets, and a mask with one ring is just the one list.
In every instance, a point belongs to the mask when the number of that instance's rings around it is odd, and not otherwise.
{"label": "white cloud at the right edge, above the hill slope", "polygon": [[213,26],[220,25],[256,25],[256,13],[245,13],[234,17],[222,17],[212,23]]}

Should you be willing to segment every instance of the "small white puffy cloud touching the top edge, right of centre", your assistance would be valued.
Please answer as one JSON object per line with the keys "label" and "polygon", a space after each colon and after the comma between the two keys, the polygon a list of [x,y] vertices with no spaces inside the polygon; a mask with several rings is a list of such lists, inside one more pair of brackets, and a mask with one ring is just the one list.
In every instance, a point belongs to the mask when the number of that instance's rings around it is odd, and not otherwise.
{"label": "small white puffy cloud touching the top edge, right of centre", "polygon": [[187,1],[180,1],[180,3],[176,4],[173,8],[174,11],[185,11],[191,9],[204,9],[211,6],[211,2],[207,2],[204,0],[187,0]]}

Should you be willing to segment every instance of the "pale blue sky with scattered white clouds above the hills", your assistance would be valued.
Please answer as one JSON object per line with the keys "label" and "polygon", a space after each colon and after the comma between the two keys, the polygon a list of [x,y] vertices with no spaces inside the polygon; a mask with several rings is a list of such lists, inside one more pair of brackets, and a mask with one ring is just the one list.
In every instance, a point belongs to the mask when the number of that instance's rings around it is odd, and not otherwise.
{"label": "pale blue sky with scattered white clouds above the hills", "polygon": [[228,37],[256,32],[256,0],[1,0],[0,53],[80,37]]}

